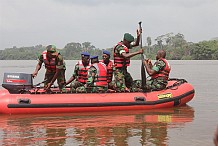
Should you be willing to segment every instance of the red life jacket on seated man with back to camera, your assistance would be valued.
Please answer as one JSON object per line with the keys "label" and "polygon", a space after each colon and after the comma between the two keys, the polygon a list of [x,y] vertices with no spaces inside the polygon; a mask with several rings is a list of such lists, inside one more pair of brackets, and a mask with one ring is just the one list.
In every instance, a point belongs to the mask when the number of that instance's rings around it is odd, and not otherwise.
{"label": "red life jacket on seated man with back to camera", "polygon": [[106,65],[102,62],[94,63],[94,66],[97,70],[97,74],[95,75],[94,85],[95,86],[107,86],[107,68]]}

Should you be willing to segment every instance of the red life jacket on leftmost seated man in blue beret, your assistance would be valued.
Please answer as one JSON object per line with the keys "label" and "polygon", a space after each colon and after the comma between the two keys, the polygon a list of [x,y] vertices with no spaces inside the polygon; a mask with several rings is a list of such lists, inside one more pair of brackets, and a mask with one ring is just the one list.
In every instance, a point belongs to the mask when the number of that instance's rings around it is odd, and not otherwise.
{"label": "red life jacket on leftmost seated man in blue beret", "polygon": [[81,60],[77,64],[79,65],[77,81],[85,84],[88,80],[88,69],[90,68],[91,64],[89,63],[88,66],[84,67]]}

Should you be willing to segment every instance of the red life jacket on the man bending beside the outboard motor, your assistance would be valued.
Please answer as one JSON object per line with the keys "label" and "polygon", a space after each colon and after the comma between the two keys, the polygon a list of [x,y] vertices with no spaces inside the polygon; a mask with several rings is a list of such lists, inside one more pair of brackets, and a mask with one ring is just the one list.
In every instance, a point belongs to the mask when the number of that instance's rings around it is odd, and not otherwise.
{"label": "red life jacket on the man bending beside the outboard motor", "polygon": [[[58,56],[58,54],[57,54],[57,56]],[[45,68],[47,69],[47,71],[52,71],[52,72],[56,71],[56,58],[57,58],[57,56],[48,60],[47,50],[42,52],[43,62],[45,64]]]}

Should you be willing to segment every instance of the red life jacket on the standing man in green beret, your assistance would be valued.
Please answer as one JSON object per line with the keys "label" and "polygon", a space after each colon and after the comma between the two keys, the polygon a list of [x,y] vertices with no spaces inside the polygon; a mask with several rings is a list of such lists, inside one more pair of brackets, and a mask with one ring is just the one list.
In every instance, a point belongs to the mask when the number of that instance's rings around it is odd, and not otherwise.
{"label": "red life jacket on the standing man in green beret", "polygon": [[121,68],[123,67],[123,65],[125,66],[129,66],[130,65],[130,58],[124,58],[122,57],[119,53],[116,53],[116,48],[118,46],[122,46],[124,47],[124,51],[126,53],[129,53],[129,49],[122,43],[119,42],[115,47],[114,47],[114,66],[117,68]]}

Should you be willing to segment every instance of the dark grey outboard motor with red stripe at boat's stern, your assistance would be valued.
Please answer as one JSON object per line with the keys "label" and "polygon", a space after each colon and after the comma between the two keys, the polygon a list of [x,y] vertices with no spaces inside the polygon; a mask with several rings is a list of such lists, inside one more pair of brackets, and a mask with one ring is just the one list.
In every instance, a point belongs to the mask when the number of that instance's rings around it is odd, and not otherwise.
{"label": "dark grey outboard motor with red stripe at boat's stern", "polygon": [[32,74],[26,73],[4,73],[2,87],[11,94],[22,93],[33,88]]}

